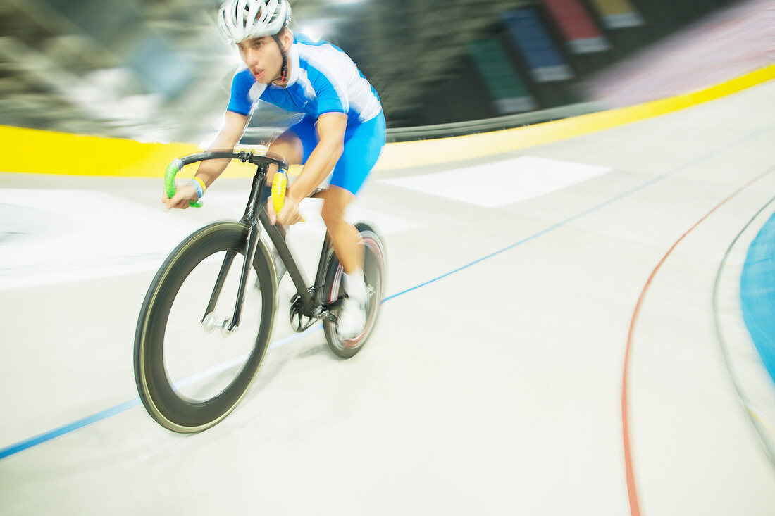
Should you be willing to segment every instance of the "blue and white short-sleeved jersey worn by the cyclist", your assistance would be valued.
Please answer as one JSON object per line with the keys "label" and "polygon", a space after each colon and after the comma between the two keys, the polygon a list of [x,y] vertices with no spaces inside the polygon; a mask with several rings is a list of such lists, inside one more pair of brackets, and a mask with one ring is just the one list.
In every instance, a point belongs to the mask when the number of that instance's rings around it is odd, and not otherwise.
{"label": "blue and white short-sleeved jersey worn by the cyclist", "polygon": [[247,68],[232,81],[229,111],[250,115],[259,100],[318,119],[323,113],[346,113],[347,128],[374,119],[382,111],[379,95],[343,50],[325,41],[294,35],[288,50],[290,77],[285,88],[260,84]]}

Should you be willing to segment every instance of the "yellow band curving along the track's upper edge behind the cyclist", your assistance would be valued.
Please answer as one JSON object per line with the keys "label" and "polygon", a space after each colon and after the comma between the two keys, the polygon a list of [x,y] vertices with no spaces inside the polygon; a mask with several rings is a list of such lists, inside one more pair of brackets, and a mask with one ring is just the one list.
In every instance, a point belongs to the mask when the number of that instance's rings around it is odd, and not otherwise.
{"label": "yellow band curving along the track's upper edge behind the cyclist", "polygon": [[[552,143],[688,108],[773,78],[775,64],[710,88],[627,108],[502,131],[390,143],[382,151],[375,170],[451,163]],[[0,141],[3,147],[0,172],[25,174],[162,177],[167,163],[174,157],[201,150],[198,146],[185,143],[139,143],[128,139],[77,136],[10,126],[0,126]],[[56,160],[46,163],[36,160],[30,156],[36,151],[53,154]],[[253,166],[232,163],[226,176],[252,177],[254,172]],[[298,167],[291,170],[291,176],[294,174],[298,174]]]}

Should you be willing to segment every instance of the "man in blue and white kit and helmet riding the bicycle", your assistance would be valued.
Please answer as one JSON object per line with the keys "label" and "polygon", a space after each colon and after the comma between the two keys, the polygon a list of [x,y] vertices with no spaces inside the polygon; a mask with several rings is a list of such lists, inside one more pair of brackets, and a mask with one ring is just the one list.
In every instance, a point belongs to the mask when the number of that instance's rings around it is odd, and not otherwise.
{"label": "man in blue and white kit and helmet riding the bicycle", "polygon": [[[325,41],[313,42],[288,29],[288,0],[226,0],[218,21],[229,43],[236,44],[245,67],[232,80],[223,128],[208,150],[233,149],[259,100],[304,113],[301,122],[269,146],[270,153],[304,167],[288,187],[281,212],[275,213],[267,201],[267,213],[273,224],[299,222],[299,201],[333,170],[322,218],[345,273],[347,298],[339,315],[339,335],[353,339],[366,322],[367,289],[360,238],[355,227],[345,221],[344,212],[385,143],[379,95],[341,49]],[[188,201],[202,197],[228,163],[202,162],[194,179],[173,198],[165,194],[167,208],[188,208]],[[269,197],[269,185],[276,172],[273,168],[267,174],[262,201]]]}

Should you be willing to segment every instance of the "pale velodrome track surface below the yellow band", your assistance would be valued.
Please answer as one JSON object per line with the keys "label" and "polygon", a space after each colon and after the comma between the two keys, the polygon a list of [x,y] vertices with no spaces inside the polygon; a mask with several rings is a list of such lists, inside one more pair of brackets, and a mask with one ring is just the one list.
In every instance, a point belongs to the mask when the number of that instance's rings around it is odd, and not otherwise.
{"label": "pale velodrome track surface below the yellow band", "polygon": [[[773,98],[770,81],[376,171],[351,214],[387,239],[367,348],[341,361],[320,331],[286,339],[286,278],[257,383],[188,436],[133,401],[136,317],[160,260],[239,218],[249,180],[164,212],[158,179],[0,175],[0,512],[773,514],[775,387],[741,401],[756,372],[735,304],[775,212]],[[291,233],[308,270],[321,227]]]}

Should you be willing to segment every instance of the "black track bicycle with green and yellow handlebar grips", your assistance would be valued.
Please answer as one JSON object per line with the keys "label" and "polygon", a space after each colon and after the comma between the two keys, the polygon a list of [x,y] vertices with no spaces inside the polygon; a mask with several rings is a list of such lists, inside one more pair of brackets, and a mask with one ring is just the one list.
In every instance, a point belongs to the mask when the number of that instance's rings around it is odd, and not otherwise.
{"label": "black track bicycle with green and yellow handlebar grips", "polygon": [[[272,335],[280,279],[270,246],[260,238],[262,230],[296,289],[292,328],[304,332],[322,322],[336,356],[350,358],[363,349],[377,322],[385,282],[381,234],[374,225],[357,222],[368,292],[366,325],[354,339],[341,338],[337,318],[346,294],[330,236],[326,232],[310,284],[288,248],[284,228],[269,222],[263,185],[270,165],[276,165],[272,201],[279,212],[288,181],[288,163],[281,157],[242,150],[176,158],[165,174],[167,195],[174,195],[174,177],[184,166],[217,159],[257,166],[245,213],[239,221],[214,222],[184,239],[153,278],[137,320],[134,371],[140,400],[155,421],[174,432],[216,425],[257,377]],[[318,189],[310,197],[324,194]]]}

